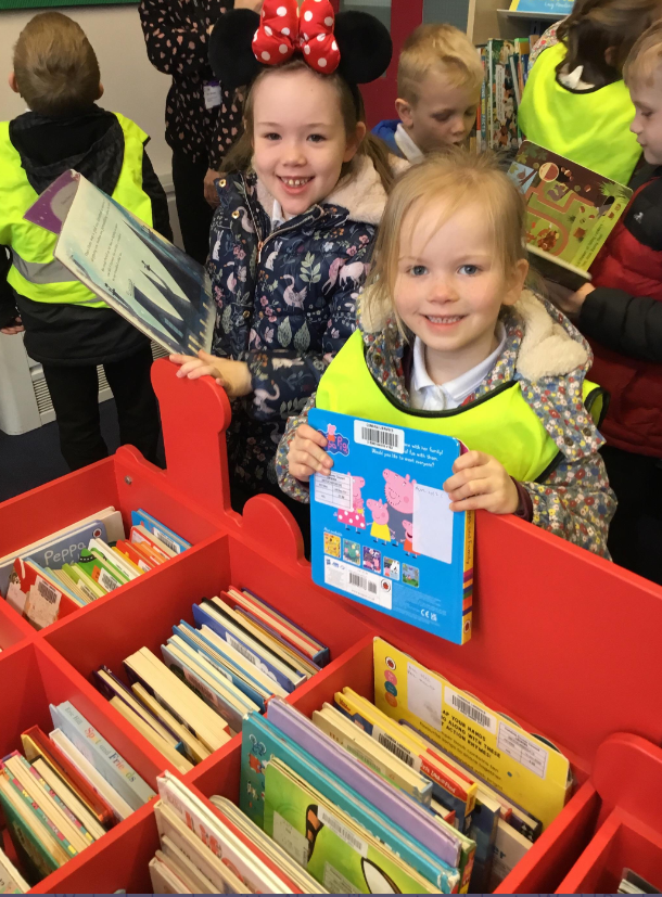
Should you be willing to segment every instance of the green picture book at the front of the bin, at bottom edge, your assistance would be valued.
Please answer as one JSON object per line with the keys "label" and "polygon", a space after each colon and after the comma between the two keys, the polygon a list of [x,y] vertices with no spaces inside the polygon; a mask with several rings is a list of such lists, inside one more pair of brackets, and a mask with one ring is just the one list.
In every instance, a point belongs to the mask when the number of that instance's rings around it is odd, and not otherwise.
{"label": "green picture book at the front of the bin, at bottom edge", "polygon": [[265,770],[265,831],[332,894],[440,893],[279,760]]}

